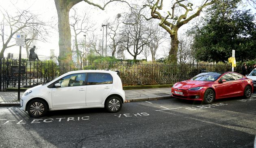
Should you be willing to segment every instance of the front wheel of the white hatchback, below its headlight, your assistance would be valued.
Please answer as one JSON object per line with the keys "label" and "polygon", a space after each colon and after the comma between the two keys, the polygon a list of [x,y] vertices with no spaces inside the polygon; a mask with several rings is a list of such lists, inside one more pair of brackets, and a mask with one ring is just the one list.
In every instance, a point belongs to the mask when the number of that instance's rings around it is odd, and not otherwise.
{"label": "front wheel of the white hatchback, below its headlight", "polygon": [[27,111],[30,117],[38,118],[47,113],[48,106],[45,101],[35,99],[28,103]]}

